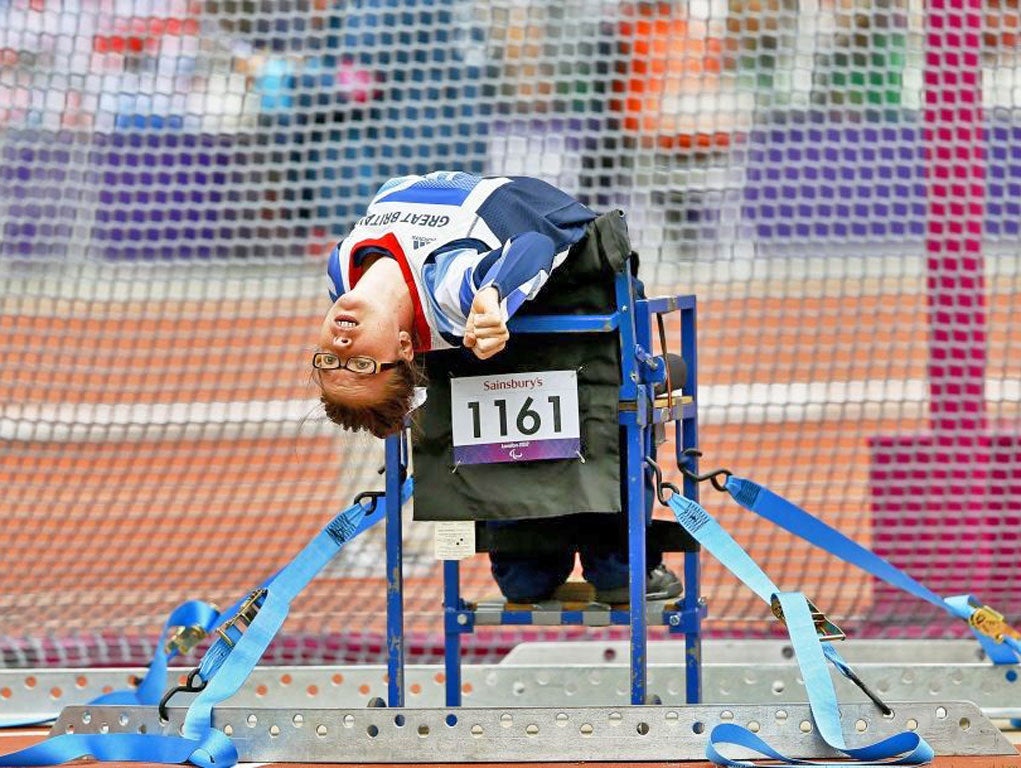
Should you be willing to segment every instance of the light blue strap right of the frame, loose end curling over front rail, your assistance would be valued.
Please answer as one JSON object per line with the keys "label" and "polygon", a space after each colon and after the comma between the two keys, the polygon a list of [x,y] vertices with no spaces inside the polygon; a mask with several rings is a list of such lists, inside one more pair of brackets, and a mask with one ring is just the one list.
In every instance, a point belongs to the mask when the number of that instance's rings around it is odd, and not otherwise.
{"label": "light blue strap right of the frame, loose end curling over front rail", "polygon": [[[819,735],[826,743],[859,761],[857,765],[922,765],[932,760],[933,753],[928,743],[918,734],[910,732],[897,734],[866,748],[848,748],[843,740],[836,691],[826,666],[826,659],[830,659],[843,674],[848,674],[850,668],[829,642],[820,640],[805,595],[777,589],[747,553],[696,501],[685,498],[680,493],[674,493],[667,503],[677,522],[767,605],[771,605],[774,597],[779,599],[801,678],[805,680],[812,716]],[[724,757],[719,748],[726,743],[753,749],[765,757],[784,761],[785,765],[826,765],[787,758],[770,748],[751,731],[734,723],[724,723],[713,729],[706,749],[707,758],[719,765],[753,765],[746,761],[734,761]],[[843,765],[846,766],[847,763],[844,762]]]}

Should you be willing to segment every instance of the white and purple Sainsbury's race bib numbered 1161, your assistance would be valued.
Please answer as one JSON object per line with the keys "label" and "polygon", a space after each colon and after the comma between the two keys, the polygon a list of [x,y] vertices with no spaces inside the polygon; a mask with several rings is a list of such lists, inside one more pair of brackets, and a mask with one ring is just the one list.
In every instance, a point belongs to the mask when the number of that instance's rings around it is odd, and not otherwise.
{"label": "white and purple Sainsbury's race bib numbered 1161", "polygon": [[451,379],[450,414],[455,466],[581,457],[575,371]]}

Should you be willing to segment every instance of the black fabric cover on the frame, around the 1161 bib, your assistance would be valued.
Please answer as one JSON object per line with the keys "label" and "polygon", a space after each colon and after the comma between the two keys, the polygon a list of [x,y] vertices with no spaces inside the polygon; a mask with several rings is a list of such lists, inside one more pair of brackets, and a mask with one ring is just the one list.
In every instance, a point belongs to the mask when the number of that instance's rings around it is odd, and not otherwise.
{"label": "black fabric cover on the frame, around the 1161 bib", "polygon": [[[636,259],[621,211],[600,215],[542,291],[518,315],[597,315],[616,308],[614,275]],[[510,334],[488,361],[469,349],[422,356],[429,397],[415,415],[411,460],[416,520],[522,520],[619,513],[620,343],[617,332]],[[584,463],[546,460],[463,465],[453,470],[450,378],[495,373],[578,372]]]}

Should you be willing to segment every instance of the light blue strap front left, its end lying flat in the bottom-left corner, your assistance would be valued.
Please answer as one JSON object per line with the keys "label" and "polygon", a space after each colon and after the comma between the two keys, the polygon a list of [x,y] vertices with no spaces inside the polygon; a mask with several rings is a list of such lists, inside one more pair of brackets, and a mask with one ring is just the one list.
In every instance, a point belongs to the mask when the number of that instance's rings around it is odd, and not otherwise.
{"label": "light blue strap front left, its end lying flat in the bottom-left corner", "polygon": [[[401,487],[401,503],[410,497],[412,490],[412,479],[407,478]],[[361,503],[351,506],[334,517],[294,560],[264,583],[264,598],[246,630],[229,626],[225,634],[230,640],[220,637],[203,656],[199,676],[206,684],[189,707],[180,736],[64,733],[0,756],[0,766],[57,765],[88,756],[98,761],[192,763],[200,768],[236,765],[237,748],[212,727],[213,706],[235,693],[247,679],[284,623],[291,601],[348,541],[384,517],[385,506],[375,500],[368,509]],[[203,670],[209,677],[202,676]]]}

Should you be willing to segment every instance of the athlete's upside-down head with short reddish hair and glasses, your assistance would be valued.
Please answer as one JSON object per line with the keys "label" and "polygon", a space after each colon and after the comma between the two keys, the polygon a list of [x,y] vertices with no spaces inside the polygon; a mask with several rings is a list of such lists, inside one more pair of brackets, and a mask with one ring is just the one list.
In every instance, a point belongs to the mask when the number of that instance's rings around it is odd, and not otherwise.
{"label": "athlete's upside-down head with short reddish hair and glasses", "polygon": [[411,334],[387,302],[359,291],[342,294],[323,318],[312,355],[327,417],[377,437],[399,432],[418,375]]}

